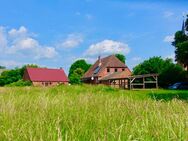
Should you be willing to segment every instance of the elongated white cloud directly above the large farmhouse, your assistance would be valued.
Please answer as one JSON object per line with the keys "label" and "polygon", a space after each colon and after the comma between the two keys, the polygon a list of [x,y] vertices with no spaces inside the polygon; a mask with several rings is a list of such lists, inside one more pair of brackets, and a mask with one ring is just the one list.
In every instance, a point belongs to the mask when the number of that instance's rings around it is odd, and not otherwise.
{"label": "elongated white cloud directly above the large farmhouse", "polygon": [[97,55],[110,55],[115,53],[128,54],[130,48],[127,44],[113,41],[104,40],[102,42],[92,44],[84,53],[85,56],[97,56]]}

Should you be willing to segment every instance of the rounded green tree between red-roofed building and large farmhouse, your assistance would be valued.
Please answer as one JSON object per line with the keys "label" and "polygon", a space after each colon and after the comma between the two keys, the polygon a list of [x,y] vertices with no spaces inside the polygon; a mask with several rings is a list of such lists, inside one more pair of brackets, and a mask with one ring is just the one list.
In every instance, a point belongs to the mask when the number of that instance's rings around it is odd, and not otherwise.
{"label": "rounded green tree between red-roofed building and large farmhouse", "polygon": [[[80,78],[83,74],[91,67],[91,64],[88,64],[85,60],[75,61],[69,69],[69,80],[71,84],[79,84]],[[79,69],[80,68],[80,69]],[[78,70],[77,70],[78,69]],[[80,71],[82,70],[82,71]],[[80,71],[80,72],[79,72]],[[82,73],[81,73],[82,72]]]}

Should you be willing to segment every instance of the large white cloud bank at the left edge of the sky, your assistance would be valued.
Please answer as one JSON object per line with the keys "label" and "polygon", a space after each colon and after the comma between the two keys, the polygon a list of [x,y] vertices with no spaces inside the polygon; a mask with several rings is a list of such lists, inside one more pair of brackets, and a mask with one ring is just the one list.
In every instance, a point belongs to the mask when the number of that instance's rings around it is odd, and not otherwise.
{"label": "large white cloud bank at the left edge of the sky", "polygon": [[1,27],[0,49],[1,46],[4,46],[6,55],[19,55],[34,59],[52,59],[58,54],[54,47],[41,45],[24,26],[19,29],[11,29],[8,32]]}

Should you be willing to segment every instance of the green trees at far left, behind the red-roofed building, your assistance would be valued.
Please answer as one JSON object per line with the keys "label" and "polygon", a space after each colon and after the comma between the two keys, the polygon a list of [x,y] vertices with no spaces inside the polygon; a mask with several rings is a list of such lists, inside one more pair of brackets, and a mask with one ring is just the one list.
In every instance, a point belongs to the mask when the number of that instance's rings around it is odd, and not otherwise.
{"label": "green trees at far left, behind the red-roofed building", "polygon": [[12,70],[3,71],[0,76],[0,86],[8,85],[13,82],[17,82],[18,80],[21,80],[26,67],[36,68],[38,66],[33,64],[28,64],[23,66],[22,68],[15,68]]}

